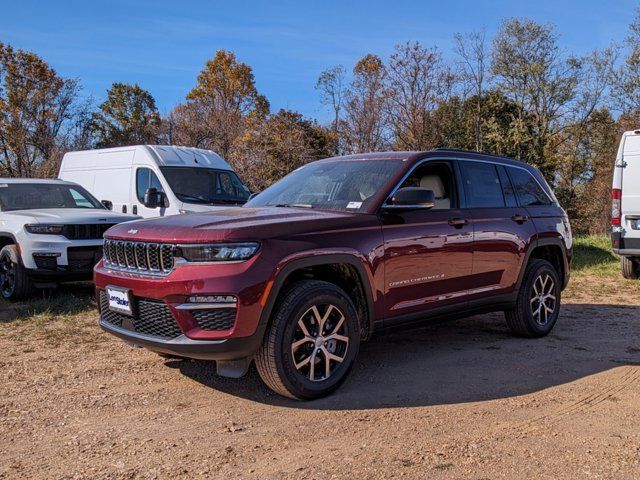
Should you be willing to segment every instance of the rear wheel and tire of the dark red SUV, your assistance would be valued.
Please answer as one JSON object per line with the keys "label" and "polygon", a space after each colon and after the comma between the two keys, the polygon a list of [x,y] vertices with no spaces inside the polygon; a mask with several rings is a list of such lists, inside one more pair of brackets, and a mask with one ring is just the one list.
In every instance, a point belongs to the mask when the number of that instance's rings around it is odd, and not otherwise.
{"label": "rear wheel and tire of the dark red SUV", "polygon": [[[550,284],[549,281],[553,283]],[[555,267],[541,259],[529,262],[516,306],[504,312],[513,334],[529,338],[547,335],[558,320],[561,294],[560,279]]]}

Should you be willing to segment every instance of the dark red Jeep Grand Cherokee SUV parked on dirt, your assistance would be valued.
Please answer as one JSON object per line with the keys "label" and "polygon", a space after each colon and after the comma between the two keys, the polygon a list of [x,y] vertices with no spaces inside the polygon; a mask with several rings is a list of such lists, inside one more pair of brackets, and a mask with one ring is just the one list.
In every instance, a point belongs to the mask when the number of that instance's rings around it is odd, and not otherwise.
{"label": "dark red Jeep Grand Cherokee SUV parked on dirt", "polygon": [[252,360],[276,392],[335,390],[382,328],[504,310],[553,328],[572,252],[540,172],[456,151],[330,158],[244,207],[129,222],[95,268],[100,325],[163,355]]}

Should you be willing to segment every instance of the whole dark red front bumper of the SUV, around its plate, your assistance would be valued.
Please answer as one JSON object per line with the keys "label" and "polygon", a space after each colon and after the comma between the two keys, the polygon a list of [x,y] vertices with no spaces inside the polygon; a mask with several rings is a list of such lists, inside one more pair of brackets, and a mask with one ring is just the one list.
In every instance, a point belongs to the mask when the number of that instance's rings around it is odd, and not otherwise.
{"label": "whole dark red front bumper of the SUV, around its plate", "polygon": [[[272,273],[273,268],[258,257],[220,265],[181,265],[167,276],[127,273],[99,262],[94,282],[101,305],[100,325],[130,344],[160,353],[206,360],[251,357],[266,328],[264,297]],[[129,291],[131,321],[126,316],[114,320],[105,293],[108,287]],[[190,296],[209,295],[237,298],[233,307],[218,307],[227,320],[217,316],[214,320],[214,310],[209,310],[214,307],[188,307]],[[198,313],[212,316],[207,320]],[[227,323],[229,317],[232,326]]]}

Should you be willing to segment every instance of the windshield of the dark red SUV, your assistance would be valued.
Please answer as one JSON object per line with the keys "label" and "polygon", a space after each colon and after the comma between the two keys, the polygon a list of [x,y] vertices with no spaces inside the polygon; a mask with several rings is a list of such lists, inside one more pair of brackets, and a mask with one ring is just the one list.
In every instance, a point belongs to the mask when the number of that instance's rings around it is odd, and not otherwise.
{"label": "windshield of the dark red SUV", "polygon": [[246,204],[362,212],[402,160],[315,162],[290,173]]}

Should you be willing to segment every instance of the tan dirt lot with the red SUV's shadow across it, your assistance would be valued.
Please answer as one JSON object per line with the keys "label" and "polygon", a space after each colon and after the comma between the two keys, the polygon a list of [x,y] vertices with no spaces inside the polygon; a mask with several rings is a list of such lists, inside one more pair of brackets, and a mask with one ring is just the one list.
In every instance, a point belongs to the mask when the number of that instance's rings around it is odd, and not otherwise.
{"label": "tan dirt lot with the red SUV's shadow across it", "polygon": [[86,289],[0,303],[0,478],[640,478],[640,288],[591,253],[547,338],[386,335],[309,403],[128,348]]}

